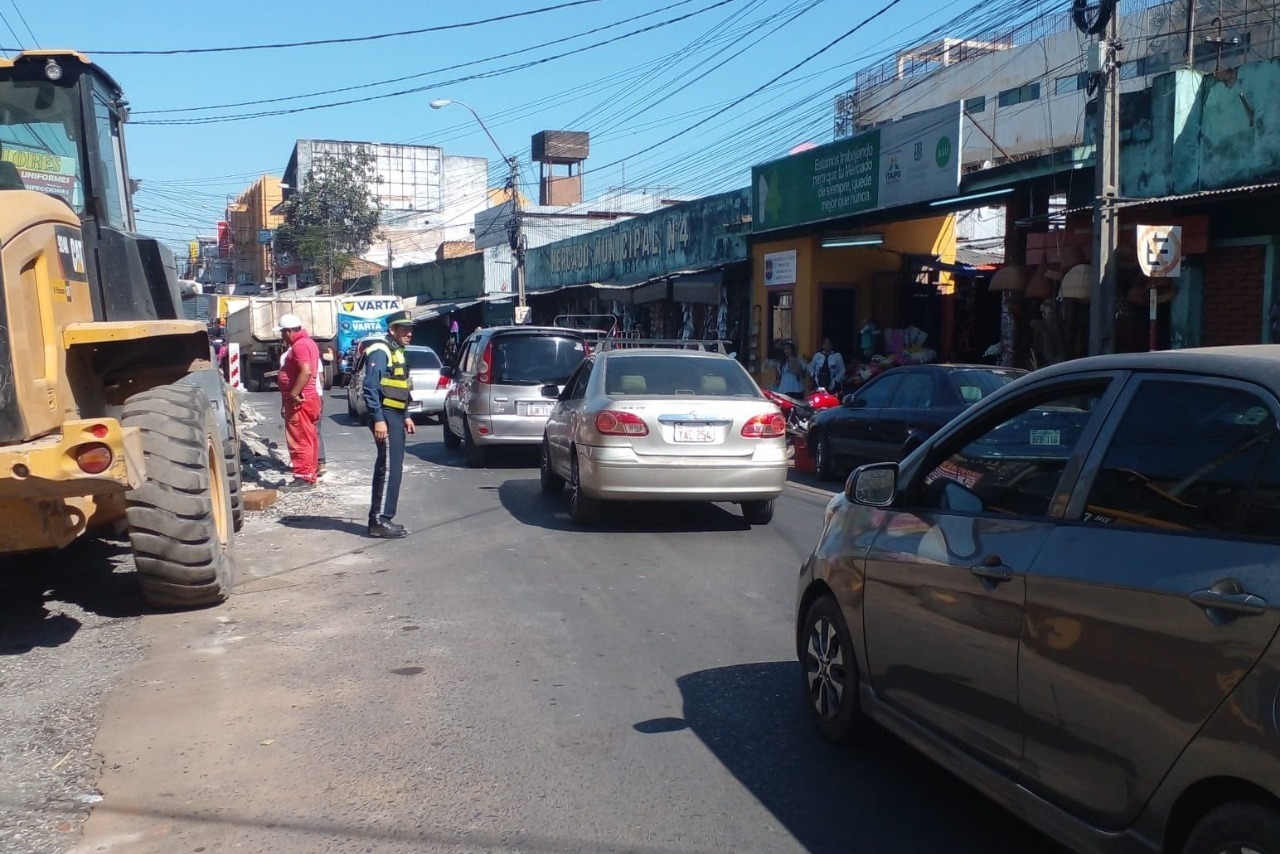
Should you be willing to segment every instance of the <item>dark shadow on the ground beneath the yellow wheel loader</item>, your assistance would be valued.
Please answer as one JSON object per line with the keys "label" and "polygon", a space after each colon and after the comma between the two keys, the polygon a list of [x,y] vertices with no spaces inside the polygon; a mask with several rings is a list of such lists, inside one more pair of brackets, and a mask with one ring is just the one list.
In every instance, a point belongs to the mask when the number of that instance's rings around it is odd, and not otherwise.
{"label": "dark shadow on the ground beneath the yellow wheel loader", "polygon": [[5,558],[0,574],[0,656],[60,647],[74,638],[81,621],[64,613],[60,603],[110,618],[151,613],[131,571],[129,554],[128,543],[90,539],[56,557]]}

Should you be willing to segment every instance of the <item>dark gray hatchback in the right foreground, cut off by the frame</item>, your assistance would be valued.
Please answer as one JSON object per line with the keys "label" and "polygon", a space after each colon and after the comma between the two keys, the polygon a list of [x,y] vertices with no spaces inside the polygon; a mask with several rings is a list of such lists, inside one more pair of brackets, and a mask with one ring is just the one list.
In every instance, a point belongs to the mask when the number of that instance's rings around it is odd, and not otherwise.
{"label": "dark gray hatchback in the right foreground, cut off by the frame", "polygon": [[858,469],[800,572],[874,721],[1082,851],[1280,853],[1280,346],[1085,359]]}

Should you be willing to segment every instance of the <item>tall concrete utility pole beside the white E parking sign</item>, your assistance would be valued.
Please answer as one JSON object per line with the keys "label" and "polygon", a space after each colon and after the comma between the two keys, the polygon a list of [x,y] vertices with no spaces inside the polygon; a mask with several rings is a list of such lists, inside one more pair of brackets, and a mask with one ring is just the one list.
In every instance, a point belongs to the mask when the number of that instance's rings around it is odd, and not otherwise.
{"label": "tall concrete utility pole beside the white E parking sign", "polygon": [[1116,247],[1120,241],[1120,49],[1119,3],[1103,0],[1098,14],[1106,15],[1091,47],[1097,61],[1097,134],[1093,170],[1093,292],[1089,300],[1089,355],[1115,352],[1116,325]]}

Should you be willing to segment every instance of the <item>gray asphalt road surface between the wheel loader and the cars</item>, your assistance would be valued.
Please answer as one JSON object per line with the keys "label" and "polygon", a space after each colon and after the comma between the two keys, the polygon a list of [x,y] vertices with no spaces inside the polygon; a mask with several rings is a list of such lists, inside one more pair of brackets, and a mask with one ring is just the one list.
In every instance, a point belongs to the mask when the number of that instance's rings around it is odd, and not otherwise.
{"label": "gray asphalt road surface between the wheel loader and the cars", "polygon": [[251,515],[232,600],[137,620],[76,851],[1056,850],[888,735],[812,731],[792,608],[824,493],[581,530],[534,452],[466,469],[429,425],[411,535],[370,540],[371,440],[328,406],[325,485]]}

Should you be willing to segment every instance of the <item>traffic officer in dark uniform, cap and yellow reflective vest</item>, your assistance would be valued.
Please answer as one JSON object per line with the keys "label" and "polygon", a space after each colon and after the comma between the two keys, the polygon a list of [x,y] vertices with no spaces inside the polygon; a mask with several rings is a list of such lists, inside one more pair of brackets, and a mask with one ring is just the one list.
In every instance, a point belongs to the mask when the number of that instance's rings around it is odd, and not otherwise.
{"label": "traffic officer in dark uniform, cap and yellow reflective vest", "polygon": [[404,469],[404,435],[413,433],[413,419],[407,414],[413,385],[404,359],[404,344],[413,338],[413,319],[408,311],[397,311],[387,319],[387,329],[385,341],[366,346],[365,385],[361,392],[378,446],[369,535],[398,539],[407,533],[393,519],[399,501],[401,472]]}

